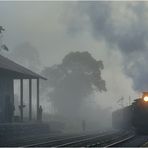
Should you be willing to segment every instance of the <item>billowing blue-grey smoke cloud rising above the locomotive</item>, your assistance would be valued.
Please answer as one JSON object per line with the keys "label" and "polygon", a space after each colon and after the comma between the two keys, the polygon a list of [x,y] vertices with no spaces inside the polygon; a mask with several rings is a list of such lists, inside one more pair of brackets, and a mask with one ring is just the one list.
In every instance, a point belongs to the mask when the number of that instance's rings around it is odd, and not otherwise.
{"label": "billowing blue-grey smoke cloud rising above the locomotive", "polygon": [[70,6],[77,13],[69,10],[65,17],[68,33],[89,31],[110,50],[120,50],[123,70],[132,78],[133,88],[147,90],[148,3],[78,2]]}

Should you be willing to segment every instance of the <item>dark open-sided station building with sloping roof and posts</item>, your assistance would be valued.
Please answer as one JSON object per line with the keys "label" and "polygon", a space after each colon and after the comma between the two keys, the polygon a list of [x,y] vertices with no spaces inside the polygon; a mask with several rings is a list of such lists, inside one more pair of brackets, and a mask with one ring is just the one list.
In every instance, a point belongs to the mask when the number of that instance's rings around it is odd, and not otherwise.
{"label": "dark open-sided station building with sloping roof and posts", "polygon": [[39,85],[40,79],[46,80],[43,76],[15,63],[14,61],[0,55],[0,123],[12,122],[14,110],[14,80],[20,80],[20,121],[23,122],[23,79],[29,80],[29,120],[32,120],[32,80],[37,81],[36,111],[39,120]]}

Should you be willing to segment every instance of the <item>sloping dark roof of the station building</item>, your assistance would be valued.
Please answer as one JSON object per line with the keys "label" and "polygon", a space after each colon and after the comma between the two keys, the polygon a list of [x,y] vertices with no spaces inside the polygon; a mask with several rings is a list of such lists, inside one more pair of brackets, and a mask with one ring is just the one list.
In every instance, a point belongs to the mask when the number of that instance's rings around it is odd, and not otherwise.
{"label": "sloping dark roof of the station building", "polygon": [[[7,72],[13,76],[13,78],[24,78],[24,79],[44,79],[45,77],[21,66],[20,64],[15,63],[14,61],[0,55],[0,72]],[[2,74],[1,74],[2,75]]]}

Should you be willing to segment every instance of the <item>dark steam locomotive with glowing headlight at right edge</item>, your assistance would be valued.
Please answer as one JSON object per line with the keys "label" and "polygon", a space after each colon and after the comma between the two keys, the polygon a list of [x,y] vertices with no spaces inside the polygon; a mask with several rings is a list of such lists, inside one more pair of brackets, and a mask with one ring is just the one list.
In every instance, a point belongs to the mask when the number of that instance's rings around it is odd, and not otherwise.
{"label": "dark steam locomotive with glowing headlight at right edge", "polygon": [[132,105],[114,111],[112,124],[116,129],[134,129],[137,133],[148,134],[148,92],[143,92]]}

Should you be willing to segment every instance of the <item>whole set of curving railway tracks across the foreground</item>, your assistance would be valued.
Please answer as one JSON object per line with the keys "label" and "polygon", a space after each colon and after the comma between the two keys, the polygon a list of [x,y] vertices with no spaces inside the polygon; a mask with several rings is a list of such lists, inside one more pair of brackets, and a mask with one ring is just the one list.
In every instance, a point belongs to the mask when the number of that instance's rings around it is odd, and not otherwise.
{"label": "whole set of curving railway tracks across the foreground", "polygon": [[[131,136],[131,137],[130,137]],[[17,138],[0,146],[13,147],[112,147],[130,140],[131,132],[125,131],[97,131],[81,134],[46,134],[36,137]]]}

